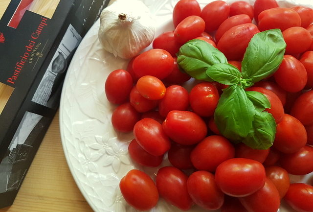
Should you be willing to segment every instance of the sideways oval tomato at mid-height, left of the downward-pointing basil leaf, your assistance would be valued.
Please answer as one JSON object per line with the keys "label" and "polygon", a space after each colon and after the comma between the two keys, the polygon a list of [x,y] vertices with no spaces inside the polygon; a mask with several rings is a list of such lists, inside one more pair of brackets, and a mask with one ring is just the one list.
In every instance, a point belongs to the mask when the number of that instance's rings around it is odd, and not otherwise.
{"label": "sideways oval tomato at mid-height, left of the downward-pointing basil leaf", "polygon": [[191,111],[171,111],[163,122],[165,133],[173,141],[182,145],[198,143],[205,138],[205,122]]}

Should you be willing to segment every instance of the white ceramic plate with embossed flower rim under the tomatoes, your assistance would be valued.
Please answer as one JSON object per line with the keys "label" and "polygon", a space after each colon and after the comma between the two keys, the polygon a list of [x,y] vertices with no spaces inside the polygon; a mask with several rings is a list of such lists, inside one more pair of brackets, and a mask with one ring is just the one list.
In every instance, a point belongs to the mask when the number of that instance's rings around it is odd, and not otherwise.
{"label": "white ceramic plate with embossed flower rim under the tomatoes", "polygon": [[[143,0],[156,20],[156,36],[173,30],[172,12],[178,0]],[[212,0],[198,0],[203,7]],[[229,0],[228,2],[233,2]],[[254,0],[249,0],[253,3]],[[281,6],[310,5],[312,0],[278,0]],[[312,4],[312,3],[311,3]],[[312,5],[311,5],[312,6]],[[97,21],[78,47],[67,71],[60,105],[61,137],[70,171],[86,200],[95,212],[135,212],[123,199],[119,180],[137,168],[155,178],[156,168],[132,162],[128,143],[133,134],[116,133],[111,124],[114,109],[104,93],[108,74],[126,69],[129,60],[115,58],[104,51],[98,40]],[[151,48],[151,47],[148,47]],[[122,86],[121,86],[122,89]],[[165,160],[161,166],[169,165]],[[309,176],[293,176],[292,181],[307,182]],[[151,212],[178,212],[162,199]],[[193,207],[191,212],[204,212]],[[291,212],[290,208],[280,209]]]}

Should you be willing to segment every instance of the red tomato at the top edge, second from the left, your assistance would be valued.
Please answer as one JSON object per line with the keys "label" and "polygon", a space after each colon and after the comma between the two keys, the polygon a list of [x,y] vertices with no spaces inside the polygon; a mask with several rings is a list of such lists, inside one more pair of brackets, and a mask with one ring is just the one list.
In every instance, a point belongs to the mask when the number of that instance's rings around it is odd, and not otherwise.
{"label": "red tomato at the top edge, second from the left", "polygon": [[215,0],[208,3],[201,11],[201,18],[205,22],[205,31],[212,32],[229,16],[229,4],[223,0]]}

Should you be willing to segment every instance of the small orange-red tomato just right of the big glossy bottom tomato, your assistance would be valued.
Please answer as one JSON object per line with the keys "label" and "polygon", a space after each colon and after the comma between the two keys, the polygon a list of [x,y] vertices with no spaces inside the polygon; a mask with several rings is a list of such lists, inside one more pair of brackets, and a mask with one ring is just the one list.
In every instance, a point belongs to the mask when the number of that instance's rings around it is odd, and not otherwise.
{"label": "small orange-red tomato just right of the big glossy bottom tomato", "polygon": [[277,188],[279,196],[282,199],[290,186],[288,172],[284,168],[276,165],[265,167],[265,172],[268,179],[270,179]]}

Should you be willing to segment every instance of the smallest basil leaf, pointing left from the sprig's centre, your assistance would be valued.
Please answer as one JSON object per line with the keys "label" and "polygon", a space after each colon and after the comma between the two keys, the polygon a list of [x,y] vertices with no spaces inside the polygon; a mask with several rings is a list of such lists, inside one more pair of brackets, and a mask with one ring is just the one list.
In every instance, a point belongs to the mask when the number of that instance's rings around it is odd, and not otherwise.
{"label": "smallest basil leaf, pointing left from the sprig's centre", "polygon": [[228,63],[214,64],[206,70],[206,74],[214,81],[224,85],[234,85],[239,83],[240,71]]}

